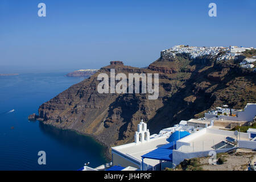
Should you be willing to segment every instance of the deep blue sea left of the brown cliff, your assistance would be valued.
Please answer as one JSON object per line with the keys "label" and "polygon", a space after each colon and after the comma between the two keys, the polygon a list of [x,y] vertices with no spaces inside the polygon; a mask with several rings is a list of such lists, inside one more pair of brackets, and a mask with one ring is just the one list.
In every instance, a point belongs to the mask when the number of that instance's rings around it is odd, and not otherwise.
{"label": "deep blue sea left of the brown cliff", "polygon": [[[28,121],[43,102],[84,78],[66,73],[27,73],[0,77],[0,170],[77,170],[106,163],[104,147],[75,131]],[[14,111],[12,111],[14,110]],[[38,152],[46,152],[46,165]]]}

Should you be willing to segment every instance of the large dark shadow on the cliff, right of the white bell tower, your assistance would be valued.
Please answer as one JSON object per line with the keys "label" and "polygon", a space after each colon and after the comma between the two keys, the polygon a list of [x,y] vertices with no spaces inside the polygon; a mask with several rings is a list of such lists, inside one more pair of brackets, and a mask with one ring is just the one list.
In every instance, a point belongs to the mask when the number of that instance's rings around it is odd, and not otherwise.
{"label": "large dark shadow on the cliff, right of the white bell tower", "polygon": [[[220,71],[221,68],[212,67],[200,72],[199,74],[198,71],[203,68],[202,65],[191,62],[191,65],[193,64],[196,64],[196,69],[194,72],[192,72],[191,77],[184,82],[185,87],[178,90],[170,98],[167,98],[167,100],[163,102],[164,106],[156,111],[155,117],[151,118],[147,122],[151,134],[159,133],[159,131],[164,128],[171,127],[179,123],[181,120],[187,121],[194,118],[195,114],[199,114],[204,110],[210,109],[210,107],[212,107],[214,102],[218,99],[213,96],[212,93],[226,88],[226,83],[232,81],[234,77],[240,76],[239,73],[230,71],[225,75],[222,81],[210,81],[208,79],[208,74],[211,72]],[[217,86],[210,93],[205,93],[204,90],[197,92],[194,84],[196,82],[200,83],[203,81],[210,82],[211,85],[217,84]],[[195,96],[196,100],[193,102],[185,101],[184,98],[189,96]],[[159,122],[161,123],[160,125]]]}

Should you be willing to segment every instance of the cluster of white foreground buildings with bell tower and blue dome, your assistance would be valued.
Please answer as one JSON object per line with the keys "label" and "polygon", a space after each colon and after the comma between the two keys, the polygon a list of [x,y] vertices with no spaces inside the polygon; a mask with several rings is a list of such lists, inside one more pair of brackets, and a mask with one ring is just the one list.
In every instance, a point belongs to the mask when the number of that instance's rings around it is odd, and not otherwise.
{"label": "cluster of white foreground buildings with bell tower and blue dome", "polygon": [[[201,158],[233,150],[256,150],[256,129],[247,133],[232,131],[235,126],[255,122],[256,104],[243,110],[216,107],[204,118],[180,121],[178,125],[150,135],[143,120],[138,124],[134,142],[112,147],[112,162],[97,168],[82,167],[81,171],[161,171],[174,168],[184,159]],[[256,159],[251,161],[255,169]]]}

